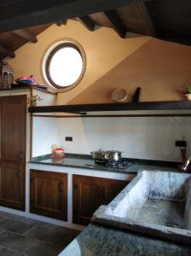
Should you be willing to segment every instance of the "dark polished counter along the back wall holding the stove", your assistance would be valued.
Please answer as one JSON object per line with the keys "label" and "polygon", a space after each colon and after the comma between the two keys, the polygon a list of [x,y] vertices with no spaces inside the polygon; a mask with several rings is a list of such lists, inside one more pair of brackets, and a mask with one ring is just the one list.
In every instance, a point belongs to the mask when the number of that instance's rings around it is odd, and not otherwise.
{"label": "dark polished counter along the back wall holding the stove", "polygon": [[132,160],[126,159],[130,162],[130,166],[124,169],[121,168],[113,168],[107,166],[95,166],[94,160],[90,157],[90,155],[86,154],[66,154],[66,157],[63,161],[55,161],[50,158],[50,154],[34,157],[30,163],[33,164],[43,164],[43,165],[51,165],[51,166],[67,166],[67,167],[75,167],[75,168],[82,168],[82,169],[91,169],[97,171],[105,171],[105,172],[121,172],[121,173],[137,173],[139,171],[168,171],[168,172],[178,172],[178,169],[175,165],[172,167],[170,164],[166,164],[164,162],[159,161],[148,161],[145,163],[141,160]]}

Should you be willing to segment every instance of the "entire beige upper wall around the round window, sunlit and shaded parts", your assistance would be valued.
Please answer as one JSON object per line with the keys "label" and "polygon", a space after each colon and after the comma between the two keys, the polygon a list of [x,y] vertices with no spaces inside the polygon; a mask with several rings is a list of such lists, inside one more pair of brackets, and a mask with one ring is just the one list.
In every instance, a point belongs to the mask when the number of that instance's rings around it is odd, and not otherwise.
{"label": "entire beige upper wall around the round window, sunlit and shaded parts", "polygon": [[112,29],[88,31],[78,21],[50,26],[38,36],[38,44],[26,44],[9,61],[14,77],[35,75],[44,83],[41,61],[44,51],[60,38],[73,38],[84,47],[87,68],[78,86],[58,96],[67,102],[111,102],[111,92],[125,88],[133,94],[142,87],[142,101],[178,100],[178,87],[191,80],[191,47],[148,37],[119,38]]}

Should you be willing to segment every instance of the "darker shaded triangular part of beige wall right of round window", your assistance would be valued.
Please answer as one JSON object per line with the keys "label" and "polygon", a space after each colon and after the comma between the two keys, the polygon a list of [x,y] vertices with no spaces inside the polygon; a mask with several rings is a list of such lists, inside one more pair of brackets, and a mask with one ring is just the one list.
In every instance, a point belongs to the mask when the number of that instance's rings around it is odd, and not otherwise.
{"label": "darker shaded triangular part of beige wall right of round window", "polygon": [[113,102],[111,94],[117,88],[125,88],[130,95],[127,101],[130,101],[138,86],[142,87],[142,101],[181,100],[179,87],[189,81],[191,47],[153,38],[70,103]]}

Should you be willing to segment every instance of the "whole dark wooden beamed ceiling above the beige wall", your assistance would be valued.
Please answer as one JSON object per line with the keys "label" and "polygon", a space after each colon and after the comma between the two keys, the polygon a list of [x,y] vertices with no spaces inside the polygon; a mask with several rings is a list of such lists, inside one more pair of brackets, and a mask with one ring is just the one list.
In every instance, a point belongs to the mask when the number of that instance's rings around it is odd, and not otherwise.
{"label": "whole dark wooden beamed ceiling above the beige wall", "polygon": [[[38,5],[27,6],[23,12],[28,1],[0,1],[0,31],[6,27],[17,28],[11,32],[0,32],[0,60],[6,56],[14,57],[14,51],[27,42],[37,43],[37,35],[40,32],[53,23],[57,26],[66,25],[68,18],[79,20],[91,32],[96,26],[106,26],[113,28],[121,38],[125,38],[128,32],[133,32],[181,44],[191,44],[190,0],[92,0],[88,5],[85,0],[38,0]],[[82,5],[78,5],[79,3]],[[4,8],[11,6],[8,12],[3,11]],[[68,10],[72,6],[75,9]],[[14,15],[9,16],[13,10]],[[91,13],[93,10],[95,13]],[[72,14],[78,14],[78,18]],[[23,28],[33,24],[30,23],[31,15],[34,24],[45,23],[47,20],[54,22]],[[7,18],[9,19],[6,20]],[[19,28],[20,24],[22,28]]]}

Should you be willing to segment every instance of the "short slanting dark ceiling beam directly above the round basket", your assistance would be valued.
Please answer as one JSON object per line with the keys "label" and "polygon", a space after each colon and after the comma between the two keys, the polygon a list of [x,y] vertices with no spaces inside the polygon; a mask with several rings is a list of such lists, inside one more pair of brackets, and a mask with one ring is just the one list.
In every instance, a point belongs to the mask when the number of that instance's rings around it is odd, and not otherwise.
{"label": "short slanting dark ceiling beam directly above the round basket", "polygon": [[102,13],[111,22],[113,29],[119,34],[121,38],[125,37],[127,32],[126,28],[122,24],[119,16],[116,14],[115,10],[109,10]]}

